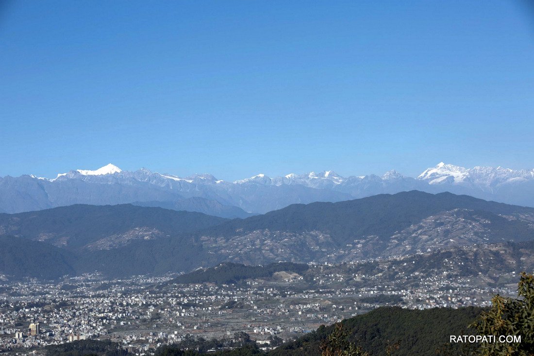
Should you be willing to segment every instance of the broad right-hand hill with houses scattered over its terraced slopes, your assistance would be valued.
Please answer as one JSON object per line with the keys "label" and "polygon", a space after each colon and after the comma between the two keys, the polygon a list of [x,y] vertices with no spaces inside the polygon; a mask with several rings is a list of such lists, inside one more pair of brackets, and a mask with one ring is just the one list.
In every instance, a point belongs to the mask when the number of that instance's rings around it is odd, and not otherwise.
{"label": "broad right-hand hill with houses scattered over its terraced slopes", "polygon": [[[534,208],[418,191],[294,204],[198,232],[206,248],[248,264],[342,262],[474,243],[534,239]],[[225,241],[224,251],[218,248]],[[326,258],[329,256],[329,258]]]}

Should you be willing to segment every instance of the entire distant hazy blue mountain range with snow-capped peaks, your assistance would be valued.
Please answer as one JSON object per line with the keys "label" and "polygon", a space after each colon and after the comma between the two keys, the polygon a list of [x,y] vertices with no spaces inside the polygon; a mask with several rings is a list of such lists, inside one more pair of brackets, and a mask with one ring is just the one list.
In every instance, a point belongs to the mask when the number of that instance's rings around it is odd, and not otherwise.
{"label": "entire distant hazy blue mountain range with snow-capped peaks", "polygon": [[[191,207],[192,210],[202,206],[202,212],[209,212],[206,207],[217,207],[216,211],[224,210],[221,205],[238,207],[244,211],[235,217],[241,217],[246,216],[246,212],[264,213],[293,203],[336,202],[414,189],[429,193],[449,191],[534,206],[534,169],[463,168],[441,162],[417,178],[403,176],[395,170],[383,176],[350,177],[328,170],[300,175],[289,173],[273,178],[260,173],[232,182],[217,179],[209,173],[182,177],[146,168],[124,171],[110,163],[96,170],[76,169],[59,173],[53,179],[33,175],[0,178],[0,212],[40,210],[77,203],[150,202],[155,205],[162,202],[161,206]],[[205,199],[206,203],[201,204],[198,199],[195,204],[184,201],[192,197]],[[226,210],[232,214],[236,211]]]}

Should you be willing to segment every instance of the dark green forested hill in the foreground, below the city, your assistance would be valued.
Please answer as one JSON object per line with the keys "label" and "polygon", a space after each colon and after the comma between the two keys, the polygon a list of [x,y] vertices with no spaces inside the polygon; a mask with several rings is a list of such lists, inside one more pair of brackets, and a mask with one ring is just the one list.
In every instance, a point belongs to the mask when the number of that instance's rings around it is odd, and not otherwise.
{"label": "dark green forested hill in the foreground, below the city", "polygon": [[[451,345],[450,335],[472,335],[467,326],[482,312],[482,308],[432,308],[407,310],[399,307],[380,307],[357,317],[343,320],[350,341],[371,356],[385,355],[388,346],[398,345],[391,352],[395,356],[428,356],[436,350],[458,354],[458,345]],[[317,331],[294,342],[278,347],[269,356],[319,356],[321,341],[332,333],[334,326],[321,326]]]}

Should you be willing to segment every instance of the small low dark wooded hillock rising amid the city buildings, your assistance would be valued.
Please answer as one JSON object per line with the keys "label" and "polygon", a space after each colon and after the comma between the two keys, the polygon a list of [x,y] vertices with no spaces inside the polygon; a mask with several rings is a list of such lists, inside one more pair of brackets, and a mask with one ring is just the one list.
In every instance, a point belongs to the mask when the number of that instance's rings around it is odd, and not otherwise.
{"label": "small low dark wooded hillock rising amid the city buildings", "polygon": [[183,274],[169,281],[169,283],[205,283],[217,284],[235,283],[249,278],[266,278],[275,272],[290,271],[302,273],[308,270],[308,265],[298,263],[271,263],[265,266],[247,266],[238,263],[223,263],[216,267],[197,270]]}

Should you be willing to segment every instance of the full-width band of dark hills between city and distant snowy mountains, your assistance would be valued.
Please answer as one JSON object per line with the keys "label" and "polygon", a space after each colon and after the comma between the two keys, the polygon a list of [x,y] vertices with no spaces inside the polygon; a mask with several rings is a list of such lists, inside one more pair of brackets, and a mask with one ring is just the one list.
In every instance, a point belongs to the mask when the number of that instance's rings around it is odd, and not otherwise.
{"label": "full-width band of dark hills between city and distant snowy mountains", "polygon": [[0,213],[0,276],[187,272],[222,262],[342,263],[534,241],[534,208],[452,193],[292,204],[245,219],[132,204]]}

